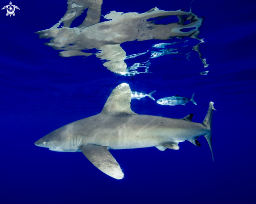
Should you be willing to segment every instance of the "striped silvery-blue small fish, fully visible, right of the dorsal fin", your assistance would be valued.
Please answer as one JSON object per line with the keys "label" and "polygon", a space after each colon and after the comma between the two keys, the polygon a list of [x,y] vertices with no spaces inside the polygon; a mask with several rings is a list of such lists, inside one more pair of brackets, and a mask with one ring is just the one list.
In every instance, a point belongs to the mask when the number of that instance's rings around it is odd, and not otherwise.
{"label": "striped silvery-blue small fish, fully visible, right of the dorsal fin", "polygon": [[195,94],[193,94],[191,99],[185,98],[185,97],[180,97],[179,95],[160,98],[159,100],[157,100],[157,103],[160,105],[168,105],[168,106],[176,106],[176,105],[185,106],[186,103],[188,103],[191,100],[193,104],[197,105],[196,102],[194,101],[194,95]]}

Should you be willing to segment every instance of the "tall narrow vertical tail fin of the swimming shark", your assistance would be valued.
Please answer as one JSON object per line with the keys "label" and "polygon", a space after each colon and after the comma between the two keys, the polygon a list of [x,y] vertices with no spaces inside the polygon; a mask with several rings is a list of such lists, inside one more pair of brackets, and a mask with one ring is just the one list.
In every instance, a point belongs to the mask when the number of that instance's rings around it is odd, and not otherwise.
{"label": "tall narrow vertical tail fin of the swimming shark", "polygon": [[[193,96],[192,96],[192,98],[193,98]],[[205,116],[204,121],[202,122],[203,126],[205,126],[209,130],[207,134],[204,134],[204,137],[206,138],[206,140],[207,140],[207,142],[208,142],[208,144],[210,146],[210,151],[212,152],[212,156],[213,156],[213,148],[212,148],[212,119],[213,119],[213,110],[216,110],[213,105],[214,105],[214,103],[210,102],[207,114]],[[213,157],[213,161],[214,161],[214,157]]]}

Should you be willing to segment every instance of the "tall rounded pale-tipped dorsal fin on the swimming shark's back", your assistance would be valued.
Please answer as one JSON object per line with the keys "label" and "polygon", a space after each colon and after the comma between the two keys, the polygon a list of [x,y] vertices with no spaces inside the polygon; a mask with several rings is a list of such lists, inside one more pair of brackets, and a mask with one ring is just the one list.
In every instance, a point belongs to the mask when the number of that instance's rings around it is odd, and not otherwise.
{"label": "tall rounded pale-tipped dorsal fin on the swimming shark's back", "polygon": [[107,99],[101,114],[110,115],[137,115],[131,110],[131,89],[129,84],[119,84]]}

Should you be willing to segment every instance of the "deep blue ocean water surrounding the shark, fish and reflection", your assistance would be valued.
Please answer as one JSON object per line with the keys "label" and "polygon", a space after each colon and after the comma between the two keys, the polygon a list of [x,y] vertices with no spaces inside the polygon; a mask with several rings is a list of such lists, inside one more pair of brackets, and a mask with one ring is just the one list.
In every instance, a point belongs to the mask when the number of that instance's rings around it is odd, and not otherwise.
{"label": "deep blue ocean water surrounding the shark, fish and reflection", "polygon": [[[9,1],[0,1],[0,7]],[[105,1],[102,15],[190,10],[191,1]],[[130,78],[110,72],[95,55],[62,58],[35,32],[52,27],[66,11],[66,1],[13,1],[20,10],[7,17],[0,12],[0,203],[255,203],[255,2],[201,1],[193,13],[204,17],[200,51],[210,65],[204,68],[189,39],[184,55],[150,59],[149,71]],[[1,8],[2,8],[1,7]],[[101,18],[101,21],[105,19]],[[81,20],[81,19],[80,19]],[[74,22],[75,23],[75,22]],[[79,22],[76,22],[79,25]],[[76,25],[74,24],[74,25]],[[127,55],[152,50],[168,41],[121,44]],[[184,50],[182,50],[184,49]],[[150,53],[128,59],[145,62]],[[174,58],[180,58],[175,60]],[[209,71],[208,75],[199,72]],[[120,83],[153,97],[180,96],[195,101],[186,106],[161,106],[148,97],[132,99],[137,114],[183,118],[193,113],[202,122],[214,101],[213,153],[204,137],[201,147],[180,143],[180,150],[110,150],[125,173],[111,178],[82,153],[52,152],[34,142],[65,124],[101,112]]]}

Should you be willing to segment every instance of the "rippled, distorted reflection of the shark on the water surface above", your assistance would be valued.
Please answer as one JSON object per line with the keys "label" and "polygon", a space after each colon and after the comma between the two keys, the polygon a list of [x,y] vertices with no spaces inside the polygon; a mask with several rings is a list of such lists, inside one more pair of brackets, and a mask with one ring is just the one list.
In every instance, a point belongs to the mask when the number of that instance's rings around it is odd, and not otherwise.
{"label": "rippled, distorted reflection of the shark on the water surface above", "polygon": [[[203,18],[197,17],[192,12],[182,10],[164,11],[157,7],[146,13],[123,13],[112,11],[105,15],[108,21],[100,22],[102,0],[68,0],[68,10],[61,20],[52,28],[38,31],[40,38],[50,38],[47,46],[55,50],[64,50],[60,56],[70,57],[77,55],[89,56],[82,50],[98,49],[97,58],[107,60],[103,65],[108,70],[117,74],[126,74],[127,65],[124,62],[126,52],[120,44],[127,41],[143,40],[169,40],[172,37],[191,37],[198,40],[199,28]],[[88,8],[87,16],[78,27],[70,28],[72,21]],[[157,20],[151,18],[165,18],[176,16],[177,22],[167,25],[154,24]],[[185,25],[185,21],[190,21]],[[63,23],[64,27],[60,27]],[[182,29],[194,28],[188,32]]]}

